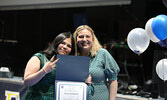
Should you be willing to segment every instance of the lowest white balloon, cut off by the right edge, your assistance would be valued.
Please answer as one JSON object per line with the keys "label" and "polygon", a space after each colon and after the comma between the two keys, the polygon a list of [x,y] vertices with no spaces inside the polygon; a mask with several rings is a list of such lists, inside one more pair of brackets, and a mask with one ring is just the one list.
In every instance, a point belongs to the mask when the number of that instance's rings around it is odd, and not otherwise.
{"label": "lowest white balloon, cut off by the right edge", "polygon": [[161,59],[157,63],[156,73],[162,80],[167,80],[167,59]]}

